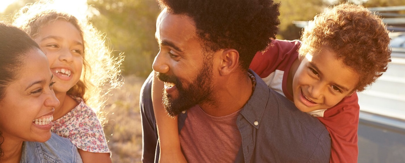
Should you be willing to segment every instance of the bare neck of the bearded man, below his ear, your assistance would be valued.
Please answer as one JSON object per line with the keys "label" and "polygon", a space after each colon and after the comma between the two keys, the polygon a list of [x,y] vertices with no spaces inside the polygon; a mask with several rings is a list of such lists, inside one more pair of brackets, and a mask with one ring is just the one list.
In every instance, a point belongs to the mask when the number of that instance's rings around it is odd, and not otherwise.
{"label": "bare neck of the bearded man, below his ear", "polygon": [[220,76],[214,85],[215,101],[200,104],[211,116],[226,116],[240,110],[252,95],[253,84],[247,73]]}

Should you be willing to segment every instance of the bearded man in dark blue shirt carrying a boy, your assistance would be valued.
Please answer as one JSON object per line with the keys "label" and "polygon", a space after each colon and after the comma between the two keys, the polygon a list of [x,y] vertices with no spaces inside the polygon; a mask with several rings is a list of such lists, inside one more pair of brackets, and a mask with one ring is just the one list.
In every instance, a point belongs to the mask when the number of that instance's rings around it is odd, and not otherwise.
{"label": "bearded man in dark blue shirt carrying a boy", "polygon": [[277,34],[272,0],[158,0],[160,51],[141,90],[143,162],[158,161],[153,75],[188,162],[329,162],[329,133],[249,70]]}

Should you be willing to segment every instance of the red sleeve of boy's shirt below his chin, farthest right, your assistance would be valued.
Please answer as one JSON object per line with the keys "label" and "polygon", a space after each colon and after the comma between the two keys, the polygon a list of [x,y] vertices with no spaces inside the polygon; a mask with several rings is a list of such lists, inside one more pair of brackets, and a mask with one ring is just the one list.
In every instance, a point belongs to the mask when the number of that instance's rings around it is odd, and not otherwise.
{"label": "red sleeve of boy's shirt below his chin, farthest right", "polygon": [[358,157],[357,129],[358,114],[357,93],[345,97],[337,105],[328,108],[324,117],[317,117],[328,129],[332,152],[330,163],[356,163]]}

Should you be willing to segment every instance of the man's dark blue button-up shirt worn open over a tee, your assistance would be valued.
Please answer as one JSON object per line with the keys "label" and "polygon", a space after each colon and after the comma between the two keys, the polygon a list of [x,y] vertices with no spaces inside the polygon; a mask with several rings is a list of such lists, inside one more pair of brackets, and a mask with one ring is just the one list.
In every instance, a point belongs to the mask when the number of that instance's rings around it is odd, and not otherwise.
{"label": "man's dark blue button-up shirt worn open over a tee", "polygon": [[[236,121],[242,145],[236,163],[328,163],[330,136],[315,117],[298,110],[286,97],[269,89],[256,77],[256,89],[242,108]],[[143,131],[142,161],[157,162],[159,157],[156,120],[151,102],[149,75],[141,89],[141,118]],[[179,132],[187,112],[179,114]],[[220,152],[220,151],[218,151]]]}

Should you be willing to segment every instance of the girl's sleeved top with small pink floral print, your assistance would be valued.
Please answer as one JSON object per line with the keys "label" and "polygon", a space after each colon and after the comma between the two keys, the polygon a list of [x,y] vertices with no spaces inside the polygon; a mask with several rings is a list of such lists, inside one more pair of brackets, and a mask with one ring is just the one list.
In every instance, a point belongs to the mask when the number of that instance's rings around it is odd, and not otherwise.
{"label": "girl's sleeved top with small pink floral print", "polygon": [[68,138],[77,148],[96,153],[110,153],[104,131],[96,113],[83,99],[75,98],[79,105],[62,118],[52,122],[51,131]]}

